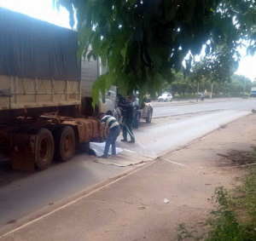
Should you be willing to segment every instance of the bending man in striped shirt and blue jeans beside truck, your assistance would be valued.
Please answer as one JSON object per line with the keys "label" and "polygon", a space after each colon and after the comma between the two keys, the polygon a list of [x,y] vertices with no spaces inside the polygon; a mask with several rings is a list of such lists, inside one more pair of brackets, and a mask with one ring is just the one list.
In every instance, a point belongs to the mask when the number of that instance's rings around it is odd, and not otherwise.
{"label": "bending man in striped shirt and blue jeans beside truck", "polygon": [[110,145],[112,147],[112,155],[116,155],[115,141],[117,140],[120,134],[120,126],[119,122],[116,120],[116,118],[113,117],[113,113],[111,112],[106,112],[106,114],[101,112],[99,114],[99,118],[102,119],[102,129],[109,129],[108,137],[103,152],[104,154],[101,156],[101,158],[108,158],[108,151]]}

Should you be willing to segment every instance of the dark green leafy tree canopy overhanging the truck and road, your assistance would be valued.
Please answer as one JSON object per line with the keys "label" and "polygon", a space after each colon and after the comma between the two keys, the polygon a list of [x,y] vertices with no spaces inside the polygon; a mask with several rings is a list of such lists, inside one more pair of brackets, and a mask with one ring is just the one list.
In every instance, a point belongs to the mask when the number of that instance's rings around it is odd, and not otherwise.
{"label": "dark green leafy tree canopy overhanging the truck and road", "polygon": [[72,26],[76,13],[79,55],[108,63],[108,72],[94,83],[94,100],[99,90],[104,93],[112,84],[124,96],[132,90],[154,95],[162,83],[172,83],[173,72],[183,69],[184,57],[199,55],[206,43],[207,54],[218,43],[235,53],[242,39],[250,41],[249,53],[255,51],[254,0],[53,1],[71,13]]}

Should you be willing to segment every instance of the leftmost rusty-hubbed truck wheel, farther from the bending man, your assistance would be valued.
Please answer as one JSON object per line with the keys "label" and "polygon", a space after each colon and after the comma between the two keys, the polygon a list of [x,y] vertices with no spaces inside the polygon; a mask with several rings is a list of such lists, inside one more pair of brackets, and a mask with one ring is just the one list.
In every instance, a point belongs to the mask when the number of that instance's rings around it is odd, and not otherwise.
{"label": "leftmost rusty-hubbed truck wheel, farther from the bending man", "polygon": [[55,143],[49,129],[29,129],[27,134],[38,135],[36,141],[36,165],[38,169],[49,168],[55,151]]}

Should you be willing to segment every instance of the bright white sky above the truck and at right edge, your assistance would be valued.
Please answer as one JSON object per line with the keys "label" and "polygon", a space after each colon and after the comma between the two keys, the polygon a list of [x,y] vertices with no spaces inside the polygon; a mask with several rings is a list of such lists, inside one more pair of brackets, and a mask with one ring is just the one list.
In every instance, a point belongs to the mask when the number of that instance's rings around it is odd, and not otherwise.
{"label": "bright white sky above the truck and at right edge", "polygon": [[[0,0],[0,7],[70,28],[67,10],[61,8],[58,13],[52,9],[52,0]],[[256,56],[246,56],[244,49],[241,55],[243,58],[236,73],[249,77],[251,81],[256,80]]]}

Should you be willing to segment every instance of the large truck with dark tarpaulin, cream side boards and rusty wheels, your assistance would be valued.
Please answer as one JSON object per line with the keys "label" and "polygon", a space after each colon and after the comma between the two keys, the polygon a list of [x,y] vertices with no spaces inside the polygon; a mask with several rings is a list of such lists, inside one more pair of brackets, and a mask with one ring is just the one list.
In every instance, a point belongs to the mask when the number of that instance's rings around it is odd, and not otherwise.
{"label": "large truck with dark tarpaulin, cream side boards and rusty wheels", "polygon": [[20,170],[67,162],[98,136],[99,62],[78,60],[77,32],[3,8],[0,22],[0,157]]}

